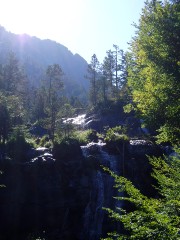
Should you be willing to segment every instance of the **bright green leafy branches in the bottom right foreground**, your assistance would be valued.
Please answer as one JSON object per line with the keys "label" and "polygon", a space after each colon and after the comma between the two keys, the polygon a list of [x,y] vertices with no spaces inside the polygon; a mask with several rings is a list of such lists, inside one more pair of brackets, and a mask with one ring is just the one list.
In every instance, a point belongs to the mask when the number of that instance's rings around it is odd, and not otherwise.
{"label": "bright green leafy branches in the bottom right foreground", "polygon": [[128,234],[109,233],[112,239],[180,239],[180,150],[170,158],[149,158],[152,176],[157,180],[161,197],[148,198],[124,177],[104,168],[115,178],[115,187],[126,197],[116,197],[134,205],[133,211],[105,209],[110,218],[122,222]]}

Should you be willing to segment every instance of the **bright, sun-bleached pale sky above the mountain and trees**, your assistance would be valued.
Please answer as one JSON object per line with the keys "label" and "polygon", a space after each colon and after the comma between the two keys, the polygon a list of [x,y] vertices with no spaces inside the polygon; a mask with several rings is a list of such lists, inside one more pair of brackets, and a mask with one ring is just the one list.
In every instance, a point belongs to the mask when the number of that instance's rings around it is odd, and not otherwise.
{"label": "bright, sun-bleached pale sky above the mountain and trees", "polygon": [[113,44],[128,49],[143,6],[144,0],[0,0],[0,25],[102,62]]}

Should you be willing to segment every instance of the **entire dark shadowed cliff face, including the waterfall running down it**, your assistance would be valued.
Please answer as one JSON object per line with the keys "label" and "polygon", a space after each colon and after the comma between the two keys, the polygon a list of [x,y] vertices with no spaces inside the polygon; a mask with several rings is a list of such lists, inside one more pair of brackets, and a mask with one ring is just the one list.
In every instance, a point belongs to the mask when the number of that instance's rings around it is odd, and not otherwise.
{"label": "entire dark shadowed cliff face, including the waterfall running down it", "polygon": [[[152,143],[133,140],[124,154],[108,153],[103,142],[82,150],[76,142],[71,144],[72,149],[66,143],[60,148],[57,145],[52,153],[46,148],[36,149],[39,155],[28,163],[1,166],[6,188],[0,191],[0,238],[26,240],[30,233],[50,240],[106,237],[107,231],[117,226],[102,207],[122,205],[112,198],[117,195],[113,178],[100,165],[124,174],[152,193],[145,156]],[[69,152],[66,156],[64,146]]]}

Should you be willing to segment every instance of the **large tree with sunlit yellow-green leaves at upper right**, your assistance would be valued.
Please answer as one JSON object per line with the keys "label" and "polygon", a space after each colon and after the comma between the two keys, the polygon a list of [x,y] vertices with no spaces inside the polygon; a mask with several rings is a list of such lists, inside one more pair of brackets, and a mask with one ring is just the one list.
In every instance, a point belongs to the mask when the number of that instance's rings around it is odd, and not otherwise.
{"label": "large tree with sunlit yellow-green leaves at upper right", "polygon": [[[133,104],[146,125],[160,132],[179,128],[179,13],[176,2],[147,1],[128,55]],[[167,134],[166,141],[174,143],[174,136]]]}

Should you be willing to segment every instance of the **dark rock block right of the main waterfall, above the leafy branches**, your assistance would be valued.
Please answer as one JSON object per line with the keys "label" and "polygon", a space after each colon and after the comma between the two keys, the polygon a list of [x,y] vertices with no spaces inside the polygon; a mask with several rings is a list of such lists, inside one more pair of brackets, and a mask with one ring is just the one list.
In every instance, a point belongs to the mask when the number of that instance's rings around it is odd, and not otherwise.
{"label": "dark rock block right of the main waterfall, above the leafy branches", "polygon": [[162,156],[160,146],[152,141],[144,139],[130,140],[124,152],[124,176],[146,196],[156,196],[157,192],[153,187],[156,185],[152,178],[152,166],[148,156]]}

